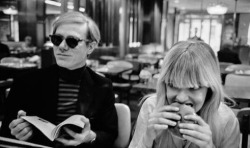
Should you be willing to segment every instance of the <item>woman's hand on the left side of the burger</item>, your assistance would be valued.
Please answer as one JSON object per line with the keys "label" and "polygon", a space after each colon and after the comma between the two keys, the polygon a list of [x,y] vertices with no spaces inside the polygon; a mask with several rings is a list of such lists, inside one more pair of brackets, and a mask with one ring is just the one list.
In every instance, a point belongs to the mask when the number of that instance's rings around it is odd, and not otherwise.
{"label": "woman's hand on the left side of the burger", "polygon": [[146,137],[144,137],[147,146],[152,146],[153,140],[163,130],[166,130],[169,126],[176,126],[176,121],[181,119],[180,115],[176,113],[177,111],[179,111],[178,107],[167,105],[155,109],[149,115]]}

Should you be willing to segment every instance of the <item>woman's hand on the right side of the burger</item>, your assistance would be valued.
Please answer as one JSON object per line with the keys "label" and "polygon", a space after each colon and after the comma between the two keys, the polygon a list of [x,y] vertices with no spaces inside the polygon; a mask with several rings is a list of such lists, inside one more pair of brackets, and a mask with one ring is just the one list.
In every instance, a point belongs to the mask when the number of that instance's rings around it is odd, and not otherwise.
{"label": "woman's hand on the right side of the burger", "polygon": [[187,115],[184,119],[195,121],[193,123],[180,123],[180,132],[183,138],[198,145],[200,148],[213,148],[212,131],[210,126],[198,115]]}

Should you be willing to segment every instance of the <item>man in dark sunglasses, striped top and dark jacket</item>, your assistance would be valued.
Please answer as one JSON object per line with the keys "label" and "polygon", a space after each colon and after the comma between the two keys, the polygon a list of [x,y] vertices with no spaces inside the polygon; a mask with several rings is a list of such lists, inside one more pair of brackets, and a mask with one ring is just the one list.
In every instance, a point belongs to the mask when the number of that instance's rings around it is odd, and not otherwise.
{"label": "man in dark sunglasses, striped top and dark jacket", "polygon": [[[2,136],[49,146],[110,148],[117,137],[117,113],[111,82],[86,67],[86,59],[100,41],[100,32],[89,17],[79,12],[62,14],[50,36],[57,65],[15,79],[7,98]],[[82,114],[85,128],[70,139],[50,142],[21,119],[35,115],[58,124]],[[16,118],[17,117],[17,118]]]}

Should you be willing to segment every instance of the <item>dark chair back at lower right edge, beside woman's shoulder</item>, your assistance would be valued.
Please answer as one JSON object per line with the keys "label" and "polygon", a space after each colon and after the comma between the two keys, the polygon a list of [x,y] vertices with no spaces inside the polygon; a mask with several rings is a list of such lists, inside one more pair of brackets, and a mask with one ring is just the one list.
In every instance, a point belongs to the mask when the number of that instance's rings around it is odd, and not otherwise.
{"label": "dark chair back at lower right edge, beside woman's shoulder", "polygon": [[240,124],[241,148],[248,147],[248,134],[250,133],[250,108],[242,108],[237,113],[237,118]]}

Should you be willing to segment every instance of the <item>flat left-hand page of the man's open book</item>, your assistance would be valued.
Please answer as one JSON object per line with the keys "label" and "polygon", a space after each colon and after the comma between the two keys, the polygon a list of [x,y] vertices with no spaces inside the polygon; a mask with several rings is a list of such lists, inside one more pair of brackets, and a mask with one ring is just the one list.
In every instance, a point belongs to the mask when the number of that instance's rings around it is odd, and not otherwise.
{"label": "flat left-hand page of the man's open book", "polygon": [[56,127],[54,124],[37,116],[22,116],[21,118],[38,128],[51,141],[54,140],[52,136],[52,131]]}

